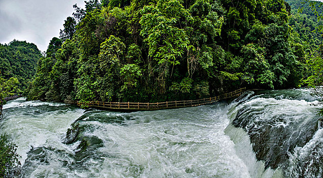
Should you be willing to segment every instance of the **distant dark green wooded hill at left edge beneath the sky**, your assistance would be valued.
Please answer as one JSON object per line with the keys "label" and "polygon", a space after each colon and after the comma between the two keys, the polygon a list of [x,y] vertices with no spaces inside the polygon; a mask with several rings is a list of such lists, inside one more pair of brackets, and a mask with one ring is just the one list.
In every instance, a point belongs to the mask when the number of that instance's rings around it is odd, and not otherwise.
{"label": "distant dark green wooded hill at left edge beneath the sky", "polygon": [[[33,80],[40,57],[41,52],[33,43],[14,40],[8,45],[0,44],[0,77],[5,80],[16,78],[19,81],[19,83],[16,82],[19,89],[16,92],[23,91],[27,83]],[[0,81],[0,87],[6,85],[5,80]],[[0,88],[0,92],[2,92],[2,88]],[[8,92],[14,93],[13,91]]]}

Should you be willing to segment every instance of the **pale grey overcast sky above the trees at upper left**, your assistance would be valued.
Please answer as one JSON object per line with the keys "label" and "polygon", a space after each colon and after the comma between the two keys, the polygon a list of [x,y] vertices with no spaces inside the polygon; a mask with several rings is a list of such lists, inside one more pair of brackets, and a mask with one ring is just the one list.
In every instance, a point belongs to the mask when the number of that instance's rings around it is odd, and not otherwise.
{"label": "pale grey overcast sky above the trees at upper left", "polygon": [[84,0],[0,0],[0,43],[27,41],[46,51],[59,36],[73,5],[84,8]]}

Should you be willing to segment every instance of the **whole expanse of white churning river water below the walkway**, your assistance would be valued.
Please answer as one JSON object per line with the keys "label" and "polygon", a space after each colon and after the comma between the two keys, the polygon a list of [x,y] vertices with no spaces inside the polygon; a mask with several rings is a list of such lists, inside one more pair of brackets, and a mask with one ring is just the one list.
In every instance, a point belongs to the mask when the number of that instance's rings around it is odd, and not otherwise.
{"label": "whole expanse of white churning river water below the walkway", "polygon": [[0,133],[21,177],[322,177],[317,103],[306,90],[132,113],[17,99]]}

